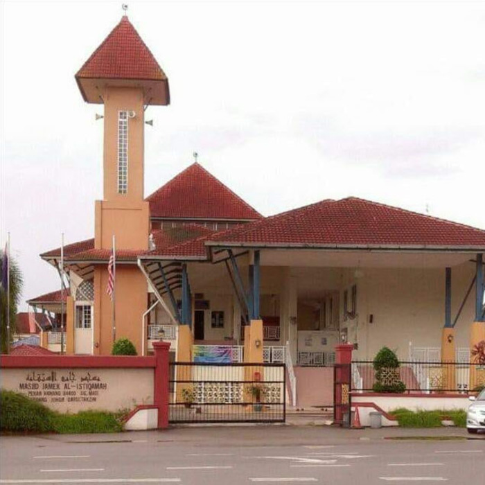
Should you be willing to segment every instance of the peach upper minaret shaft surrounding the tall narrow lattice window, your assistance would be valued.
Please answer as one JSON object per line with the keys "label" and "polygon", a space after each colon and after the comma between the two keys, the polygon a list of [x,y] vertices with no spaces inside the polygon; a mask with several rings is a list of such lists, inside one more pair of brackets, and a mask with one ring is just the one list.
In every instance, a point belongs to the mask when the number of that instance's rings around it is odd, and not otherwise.
{"label": "peach upper minaret shaft surrounding the tall narrow lattice window", "polygon": [[[143,143],[144,112],[143,89],[107,87],[105,102],[104,134],[104,199],[110,201],[143,200]],[[134,111],[128,119],[128,190],[118,194],[118,112]]]}

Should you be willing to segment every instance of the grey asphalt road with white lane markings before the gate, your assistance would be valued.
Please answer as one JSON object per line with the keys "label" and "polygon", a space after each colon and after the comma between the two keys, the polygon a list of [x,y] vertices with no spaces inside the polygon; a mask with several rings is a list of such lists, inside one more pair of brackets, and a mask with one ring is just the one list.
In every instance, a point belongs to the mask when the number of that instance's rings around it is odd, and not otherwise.
{"label": "grey asphalt road with white lane markings before the gate", "polygon": [[482,484],[485,434],[250,426],[2,436],[0,466],[0,484]]}

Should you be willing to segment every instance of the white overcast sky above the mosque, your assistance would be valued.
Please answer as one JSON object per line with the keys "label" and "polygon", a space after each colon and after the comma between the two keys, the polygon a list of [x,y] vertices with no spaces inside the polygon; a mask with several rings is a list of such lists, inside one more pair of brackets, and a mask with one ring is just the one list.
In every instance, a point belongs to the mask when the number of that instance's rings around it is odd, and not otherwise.
{"label": "white overcast sky above the mosque", "polygon": [[[200,163],[264,215],[349,195],[485,229],[485,3],[129,1],[170,80],[145,193]],[[1,1],[1,239],[24,299],[38,254],[94,235],[103,107],[74,73],[121,1]]]}

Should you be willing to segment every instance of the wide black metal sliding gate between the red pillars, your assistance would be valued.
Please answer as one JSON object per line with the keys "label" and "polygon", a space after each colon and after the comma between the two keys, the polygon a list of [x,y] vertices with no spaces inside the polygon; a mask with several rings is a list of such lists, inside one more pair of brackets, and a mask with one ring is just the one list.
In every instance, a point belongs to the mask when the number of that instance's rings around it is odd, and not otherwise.
{"label": "wide black metal sliding gate between the red pillars", "polygon": [[284,364],[170,363],[170,423],[284,423]]}

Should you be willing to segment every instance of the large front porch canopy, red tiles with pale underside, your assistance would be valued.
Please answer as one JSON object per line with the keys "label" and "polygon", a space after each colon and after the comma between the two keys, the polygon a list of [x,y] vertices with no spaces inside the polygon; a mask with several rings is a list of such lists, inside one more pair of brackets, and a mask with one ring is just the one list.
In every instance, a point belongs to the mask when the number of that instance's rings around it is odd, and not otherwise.
{"label": "large front porch canopy, red tiles with pale underside", "polygon": [[[349,197],[323,200],[217,233],[204,246],[212,263],[250,252],[257,254],[257,265],[297,268],[301,274],[305,268],[316,271],[318,267],[347,268],[355,275],[366,267],[442,268],[443,276],[446,274],[446,326],[452,326],[450,268],[469,263],[475,274],[475,321],[485,321],[485,231],[464,224]],[[249,261],[256,268],[251,254]],[[312,279],[301,279],[299,291],[304,292],[305,285],[308,292],[315,290]],[[252,290],[254,294],[258,291]]]}

